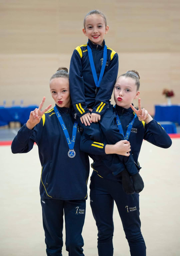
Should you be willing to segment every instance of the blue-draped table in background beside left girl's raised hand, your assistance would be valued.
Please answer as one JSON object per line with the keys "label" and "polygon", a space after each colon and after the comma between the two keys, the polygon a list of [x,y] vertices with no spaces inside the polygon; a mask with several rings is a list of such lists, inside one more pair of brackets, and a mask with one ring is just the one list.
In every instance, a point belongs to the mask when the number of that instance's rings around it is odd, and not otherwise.
{"label": "blue-draped table in background beside left girl's raised hand", "polygon": [[21,125],[27,122],[30,112],[35,108],[39,108],[36,105],[29,105],[27,107],[12,106],[12,107],[0,107],[0,126],[8,125],[10,122],[20,122]]}

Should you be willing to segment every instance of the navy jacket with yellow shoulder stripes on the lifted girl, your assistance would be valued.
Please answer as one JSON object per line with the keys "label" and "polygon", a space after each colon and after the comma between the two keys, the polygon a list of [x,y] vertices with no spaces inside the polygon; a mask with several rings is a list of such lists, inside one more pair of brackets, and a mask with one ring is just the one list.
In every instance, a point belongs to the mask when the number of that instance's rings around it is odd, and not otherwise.
{"label": "navy jacket with yellow shoulder stripes on the lifted girl", "polygon": [[[103,46],[95,45],[88,40],[92,49],[92,56],[95,64],[97,77],[101,72],[103,60]],[[70,94],[73,107],[79,117],[89,112],[103,115],[108,101],[111,98],[118,74],[118,55],[111,48],[107,47],[107,62],[100,89],[96,95],[96,85],[88,57],[87,44],[76,47],[70,62]]]}

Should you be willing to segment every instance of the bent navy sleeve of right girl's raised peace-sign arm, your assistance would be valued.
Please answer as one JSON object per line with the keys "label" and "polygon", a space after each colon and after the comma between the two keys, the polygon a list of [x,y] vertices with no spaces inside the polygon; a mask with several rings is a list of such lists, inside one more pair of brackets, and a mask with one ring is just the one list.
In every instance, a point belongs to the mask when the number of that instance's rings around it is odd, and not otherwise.
{"label": "bent navy sleeve of right girl's raised peace-sign arm", "polygon": [[171,138],[156,120],[152,119],[144,128],[144,139],[148,142],[160,148],[169,148],[172,145]]}

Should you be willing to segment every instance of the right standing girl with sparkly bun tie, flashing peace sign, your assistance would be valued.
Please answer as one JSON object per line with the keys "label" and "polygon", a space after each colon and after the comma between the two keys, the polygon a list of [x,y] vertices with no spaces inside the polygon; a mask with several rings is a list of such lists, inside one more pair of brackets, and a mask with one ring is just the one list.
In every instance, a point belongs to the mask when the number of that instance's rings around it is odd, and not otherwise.
{"label": "right standing girl with sparkly bun tie, flashing peace sign", "polygon": [[[117,126],[119,133],[131,143],[131,152],[135,164],[140,170],[138,156],[141,145],[144,140],[160,147],[169,148],[172,141],[166,131],[157,123],[145,110],[141,108],[141,99],[138,99],[138,110],[132,105],[133,99],[139,96],[139,74],[135,70],[118,77],[114,87],[115,108],[107,122]],[[81,148],[86,152],[83,142],[88,138],[84,136]],[[105,144],[106,137],[101,136],[100,141]],[[105,156],[104,156],[105,157]],[[116,162],[109,155],[111,162]],[[116,202],[119,216],[121,218],[126,239],[129,243],[131,256],[145,256],[146,245],[141,234],[141,221],[139,218],[139,194],[128,195],[123,190],[122,180],[124,176],[120,174],[113,175],[113,164],[111,170],[104,164],[103,154],[101,157],[96,156],[92,164],[93,173],[90,183],[90,204],[92,213],[98,227],[98,255],[113,256],[113,205]],[[129,182],[132,180],[129,176]],[[131,186],[131,185],[129,185]],[[133,186],[133,184],[132,184]]]}

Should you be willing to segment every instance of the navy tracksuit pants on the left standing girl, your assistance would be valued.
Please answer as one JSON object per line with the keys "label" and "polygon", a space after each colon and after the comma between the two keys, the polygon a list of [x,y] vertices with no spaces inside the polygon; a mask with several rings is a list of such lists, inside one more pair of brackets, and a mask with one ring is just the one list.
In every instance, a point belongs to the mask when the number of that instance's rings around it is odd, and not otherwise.
{"label": "navy tracksuit pants on the left standing girl", "polygon": [[85,220],[86,200],[42,199],[42,219],[48,256],[62,256],[63,215],[66,228],[66,250],[69,256],[83,254],[82,228]]}

